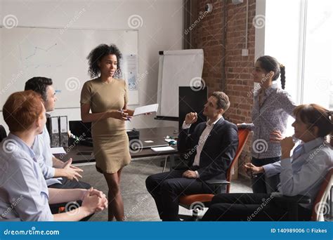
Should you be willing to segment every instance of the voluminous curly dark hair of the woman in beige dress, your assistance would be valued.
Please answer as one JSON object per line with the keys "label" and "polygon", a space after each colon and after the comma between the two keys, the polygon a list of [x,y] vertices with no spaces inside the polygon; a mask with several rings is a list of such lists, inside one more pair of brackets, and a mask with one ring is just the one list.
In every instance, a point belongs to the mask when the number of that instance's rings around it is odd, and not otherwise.
{"label": "voluminous curly dark hair of the woman in beige dress", "polygon": [[94,78],[100,75],[100,68],[98,67],[98,62],[102,60],[106,55],[116,55],[117,56],[117,72],[122,72],[120,69],[120,60],[122,58],[122,53],[115,44],[108,46],[107,44],[100,44],[89,53],[86,59],[89,60],[89,75]]}

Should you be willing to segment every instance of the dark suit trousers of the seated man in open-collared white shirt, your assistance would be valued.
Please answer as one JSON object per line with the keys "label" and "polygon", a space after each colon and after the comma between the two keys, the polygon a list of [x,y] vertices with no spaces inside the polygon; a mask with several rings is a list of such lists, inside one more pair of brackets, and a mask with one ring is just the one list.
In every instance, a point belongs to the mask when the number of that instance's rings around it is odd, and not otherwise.
{"label": "dark suit trousers of the seated man in open-collared white shirt", "polygon": [[199,179],[182,178],[186,170],[174,170],[150,175],[145,180],[148,192],[155,200],[159,218],[178,221],[179,198],[188,194],[211,194],[214,190]]}

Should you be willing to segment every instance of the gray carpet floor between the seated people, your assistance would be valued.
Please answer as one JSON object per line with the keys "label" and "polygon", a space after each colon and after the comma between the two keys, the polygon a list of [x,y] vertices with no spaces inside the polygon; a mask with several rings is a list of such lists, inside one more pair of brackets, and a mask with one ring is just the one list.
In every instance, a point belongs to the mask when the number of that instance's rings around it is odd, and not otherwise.
{"label": "gray carpet floor between the seated people", "polygon": [[[148,175],[162,172],[161,160],[135,160],[124,168],[121,191],[126,221],[160,221],[155,201],[145,188],[145,179]],[[95,164],[79,167],[84,170],[82,181],[107,194],[107,184],[103,175],[96,171]],[[230,192],[252,192],[249,180],[244,178],[233,180]],[[190,214],[190,211],[181,207],[180,213]],[[90,221],[107,221],[107,210],[96,213]]]}

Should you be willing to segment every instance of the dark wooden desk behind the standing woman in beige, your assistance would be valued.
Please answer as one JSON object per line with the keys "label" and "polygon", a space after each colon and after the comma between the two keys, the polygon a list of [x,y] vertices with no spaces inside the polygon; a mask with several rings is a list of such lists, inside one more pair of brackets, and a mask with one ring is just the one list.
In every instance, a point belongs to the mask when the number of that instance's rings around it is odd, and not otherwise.
{"label": "dark wooden desk behind the standing woman in beige", "polygon": [[[145,140],[157,140],[157,139],[164,139],[166,135],[169,135],[170,137],[176,137],[178,136],[178,133],[175,131],[178,131],[174,127],[162,127],[162,128],[141,128],[138,129],[140,131],[140,139],[142,142]],[[152,156],[169,156],[170,158],[170,166],[174,165],[174,156],[178,154],[178,150],[176,146],[173,146],[176,151],[172,152],[153,152],[150,148],[145,149],[138,149],[136,152],[130,151],[131,158],[137,159],[142,157],[152,157]],[[81,164],[81,163],[89,163],[89,162],[95,162],[95,156],[93,156],[93,147],[79,145],[79,144],[72,144],[69,147],[65,148],[65,151],[67,154],[55,154],[55,156],[62,160],[67,161],[68,159],[72,158],[73,164]],[[79,153],[86,153],[91,152],[91,154],[79,154]],[[164,169],[166,166],[166,159],[164,162]],[[164,171],[163,169],[163,171]]]}

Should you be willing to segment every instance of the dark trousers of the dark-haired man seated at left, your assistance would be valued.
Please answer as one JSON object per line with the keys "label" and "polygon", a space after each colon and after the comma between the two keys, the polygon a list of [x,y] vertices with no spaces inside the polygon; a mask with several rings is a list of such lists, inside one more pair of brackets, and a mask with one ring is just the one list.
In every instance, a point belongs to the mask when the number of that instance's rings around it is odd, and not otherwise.
{"label": "dark trousers of the dark-haired man seated at left", "polygon": [[[89,189],[91,185],[86,182],[77,182],[75,180],[69,180],[68,178],[63,178],[60,180],[60,183],[55,183],[53,185],[49,185],[49,188],[57,188],[57,189]],[[59,204],[50,204],[51,213],[58,213],[60,207],[65,207],[67,203],[59,203]],[[78,206],[81,206],[82,201],[77,201]]]}

